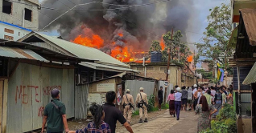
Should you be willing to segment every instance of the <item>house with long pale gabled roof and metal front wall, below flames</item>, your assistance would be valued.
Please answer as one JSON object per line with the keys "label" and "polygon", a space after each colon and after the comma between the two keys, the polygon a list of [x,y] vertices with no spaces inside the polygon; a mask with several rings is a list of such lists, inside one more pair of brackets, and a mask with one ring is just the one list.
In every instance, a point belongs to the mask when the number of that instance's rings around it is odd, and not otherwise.
{"label": "house with long pale gabled roof and metal front wall, below flames", "polygon": [[[138,71],[130,69],[130,66],[124,62],[118,61],[101,50],[35,32],[27,34],[19,41],[70,56],[93,60],[93,62],[74,61],[76,62],[74,73],[76,95],[74,117],[76,119],[87,118],[89,113],[87,110],[92,102],[105,103],[107,91],[116,91],[120,96],[127,87],[131,87],[130,90],[135,94],[138,93],[139,87],[137,86],[141,86],[148,89],[149,95],[153,95],[155,80],[134,75]],[[130,84],[131,82],[133,83]],[[117,104],[120,104],[120,101]]]}

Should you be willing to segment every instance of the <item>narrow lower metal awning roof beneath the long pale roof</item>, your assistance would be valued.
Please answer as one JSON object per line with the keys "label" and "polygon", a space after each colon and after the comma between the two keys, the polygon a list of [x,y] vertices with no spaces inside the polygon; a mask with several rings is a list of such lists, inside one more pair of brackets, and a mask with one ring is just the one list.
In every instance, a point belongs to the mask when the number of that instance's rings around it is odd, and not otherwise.
{"label": "narrow lower metal awning roof beneath the long pale roof", "polygon": [[96,70],[109,69],[109,71],[132,71],[132,72],[137,72],[138,73],[138,71],[135,71],[133,69],[103,65],[103,64],[95,63],[95,62],[81,62],[79,64],[81,66],[90,67],[90,68],[93,68],[93,69],[96,69]]}

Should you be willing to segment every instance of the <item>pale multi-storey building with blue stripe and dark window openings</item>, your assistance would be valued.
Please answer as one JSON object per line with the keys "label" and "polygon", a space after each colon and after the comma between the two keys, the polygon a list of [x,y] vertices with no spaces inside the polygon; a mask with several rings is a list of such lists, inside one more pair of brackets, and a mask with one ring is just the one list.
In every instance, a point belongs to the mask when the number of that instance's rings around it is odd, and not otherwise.
{"label": "pale multi-storey building with blue stripe and dark window openings", "polygon": [[38,30],[38,10],[38,0],[0,0],[0,38],[16,41]]}

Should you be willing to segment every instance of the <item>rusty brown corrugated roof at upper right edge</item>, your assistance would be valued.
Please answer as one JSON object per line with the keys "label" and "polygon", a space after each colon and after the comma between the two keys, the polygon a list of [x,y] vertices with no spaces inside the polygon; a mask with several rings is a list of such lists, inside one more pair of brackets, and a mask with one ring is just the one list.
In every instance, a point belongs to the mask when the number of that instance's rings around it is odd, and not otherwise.
{"label": "rusty brown corrugated roof at upper right edge", "polygon": [[250,45],[256,46],[256,9],[240,9]]}

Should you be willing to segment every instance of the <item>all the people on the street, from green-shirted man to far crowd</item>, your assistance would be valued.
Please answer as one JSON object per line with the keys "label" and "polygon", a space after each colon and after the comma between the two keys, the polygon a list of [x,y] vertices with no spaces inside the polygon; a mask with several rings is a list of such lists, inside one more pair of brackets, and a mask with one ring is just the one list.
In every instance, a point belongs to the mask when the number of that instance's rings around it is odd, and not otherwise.
{"label": "all the people on the street, from green-shirted man to far crowd", "polygon": [[[210,119],[218,114],[221,107],[225,103],[233,104],[233,87],[199,87],[196,84],[192,87],[178,87],[175,86],[167,97],[169,103],[169,113],[177,120],[180,119],[180,111],[195,111],[199,115],[197,131],[203,131],[211,126]],[[147,94],[144,93],[144,88],[140,87],[139,93],[134,98],[130,95],[130,90],[126,90],[126,94],[122,97],[122,106],[124,113],[115,107],[116,93],[109,91],[105,94],[106,103],[99,105],[93,103],[89,107],[89,111],[93,115],[93,121],[88,125],[77,131],[69,131],[66,118],[66,107],[64,103],[60,102],[60,91],[53,89],[51,91],[52,101],[48,103],[43,113],[43,129],[47,123],[47,133],[114,133],[116,130],[117,121],[119,121],[127,131],[133,133],[130,127],[132,109],[134,106],[139,110],[138,123],[147,123]],[[160,87],[158,92],[159,110],[163,103],[163,87]]]}

